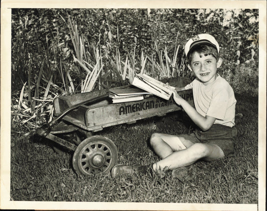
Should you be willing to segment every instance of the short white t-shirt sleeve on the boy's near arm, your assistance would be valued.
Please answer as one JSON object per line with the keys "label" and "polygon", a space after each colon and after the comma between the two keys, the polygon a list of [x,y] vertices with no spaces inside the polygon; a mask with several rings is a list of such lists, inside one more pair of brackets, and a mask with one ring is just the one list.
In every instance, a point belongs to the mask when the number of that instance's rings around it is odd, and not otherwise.
{"label": "short white t-shirt sleeve on the boy's near arm", "polygon": [[229,93],[226,89],[214,90],[206,115],[223,120],[227,110]]}

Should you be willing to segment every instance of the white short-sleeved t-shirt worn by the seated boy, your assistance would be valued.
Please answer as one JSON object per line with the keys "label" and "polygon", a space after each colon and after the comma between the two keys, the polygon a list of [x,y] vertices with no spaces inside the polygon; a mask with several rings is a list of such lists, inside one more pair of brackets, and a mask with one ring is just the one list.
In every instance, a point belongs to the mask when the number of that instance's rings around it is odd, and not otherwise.
{"label": "white short-sleeved t-shirt worn by the seated boy", "polygon": [[185,89],[193,88],[194,104],[197,112],[202,116],[216,118],[214,124],[234,126],[236,99],[230,84],[217,76],[216,80],[208,85],[204,85],[197,78]]}

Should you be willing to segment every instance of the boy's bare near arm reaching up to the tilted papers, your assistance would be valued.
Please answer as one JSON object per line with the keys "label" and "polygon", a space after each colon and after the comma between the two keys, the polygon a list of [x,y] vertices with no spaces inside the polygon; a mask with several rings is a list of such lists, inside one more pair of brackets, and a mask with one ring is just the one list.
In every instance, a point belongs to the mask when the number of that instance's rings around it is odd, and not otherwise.
{"label": "boy's bare near arm reaching up to the tilted papers", "polygon": [[173,99],[174,101],[181,105],[187,115],[192,119],[192,121],[199,126],[203,131],[208,130],[215,119],[211,116],[202,116],[199,114],[194,107],[192,107],[185,99],[183,99],[176,91],[173,91]]}

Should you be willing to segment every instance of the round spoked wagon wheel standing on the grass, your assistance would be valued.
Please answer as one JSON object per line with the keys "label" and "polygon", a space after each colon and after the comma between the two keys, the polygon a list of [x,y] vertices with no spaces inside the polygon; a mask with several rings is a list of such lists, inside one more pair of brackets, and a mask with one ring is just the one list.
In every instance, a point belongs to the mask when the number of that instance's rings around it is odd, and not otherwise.
{"label": "round spoked wagon wheel standing on the grass", "polygon": [[101,135],[94,135],[77,146],[72,164],[78,175],[95,175],[108,173],[117,160],[118,150],[113,141]]}

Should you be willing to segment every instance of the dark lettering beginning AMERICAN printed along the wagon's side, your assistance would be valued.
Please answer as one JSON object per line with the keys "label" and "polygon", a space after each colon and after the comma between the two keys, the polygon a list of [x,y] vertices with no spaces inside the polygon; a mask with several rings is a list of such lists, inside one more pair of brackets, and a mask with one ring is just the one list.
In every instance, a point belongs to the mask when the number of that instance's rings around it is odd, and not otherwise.
{"label": "dark lettering beginning AMERICAN printed along the wagon's side", "polygon": [[[193,93],[184,93],[180,94],[180,96],[187,101],[193,99]],[[127,104],[124,106],[120,106],[119,115],[133,113],[142,110],[148,110],[152,108],[166,107],[173,104],[175,104],[173,98],[170,98],[168,101],[160,98],[156,98],[156,100],[141,101],[134,104]]]}

